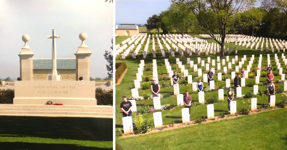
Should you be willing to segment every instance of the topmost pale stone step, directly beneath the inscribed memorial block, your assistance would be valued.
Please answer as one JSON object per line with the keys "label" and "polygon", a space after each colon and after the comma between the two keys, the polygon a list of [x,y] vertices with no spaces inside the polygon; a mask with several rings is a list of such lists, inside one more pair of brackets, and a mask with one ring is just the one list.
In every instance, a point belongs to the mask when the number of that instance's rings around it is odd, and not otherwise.
{"label": "topmost pale stone step, directly beneath the inscribed memorial block", "polygon": [[78,106],[78,105],[13,105],[13,104],[0,104],[0,108],[67,108],[67,109],[106,109],[106,110],[113,110],[113,106],[106,106],[106,105]]}

